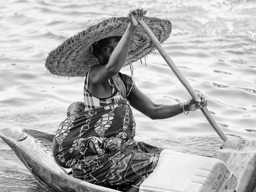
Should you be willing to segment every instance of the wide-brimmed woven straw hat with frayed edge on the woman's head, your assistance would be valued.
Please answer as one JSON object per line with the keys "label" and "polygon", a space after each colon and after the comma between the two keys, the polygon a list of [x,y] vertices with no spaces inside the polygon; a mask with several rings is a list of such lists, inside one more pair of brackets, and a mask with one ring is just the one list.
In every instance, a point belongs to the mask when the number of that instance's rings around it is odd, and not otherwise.
{"label": "wide-brimmed woven straw hat with frayed edge on the woman's head", "polygon": [[[161,44],[169,38],[172,23],[168,19],[144,16],[143,20]],[[93,17],[88,20],[84,29],[49,52],[45,67],[57,76],[86,76],[90,67],[99,64],[98,59],[90,51],[92,44],[104,38],[122,36],[128,24],[129,17],[108,15]],[[137,26],[131,38],[124,66],[138,61],[155,49],[153,42],[141,26]]]}

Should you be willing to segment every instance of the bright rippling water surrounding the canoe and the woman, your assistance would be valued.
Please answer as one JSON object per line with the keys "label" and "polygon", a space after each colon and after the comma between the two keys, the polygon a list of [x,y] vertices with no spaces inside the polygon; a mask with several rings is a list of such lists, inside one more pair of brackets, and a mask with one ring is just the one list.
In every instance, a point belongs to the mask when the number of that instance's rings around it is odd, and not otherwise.
{"label": "bright rippling water surrounding the canoe and the woman", "polygon": [[[173,23],[163,45],[208,109],[233,138],[256,138],[256,3],[254,0],[0,1],[1,122],[55,132],[71,102],[83,101],[84,79],[46,73],[47,53],[94,16],[127,15],[132,7]],[[156,103],[189,94],[158,52],[136,62],[134,81]],[[129,67],[122,69],[130,74]],[[222,141],[201,111],[151,120],[134,110],[136,140],[212,155]],[[0,140],[0,191],[45,192]]]}

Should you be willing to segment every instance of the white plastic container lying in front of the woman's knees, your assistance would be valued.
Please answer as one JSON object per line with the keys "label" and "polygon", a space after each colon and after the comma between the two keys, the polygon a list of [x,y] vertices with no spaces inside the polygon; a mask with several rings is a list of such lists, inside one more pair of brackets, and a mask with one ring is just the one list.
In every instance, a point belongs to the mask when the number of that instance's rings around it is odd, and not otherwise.
{"label": "white plastic container lying in front of the woman's knees", "polygon": [[237,179],[221,160],[163,150],[140,192],[234,192]]}

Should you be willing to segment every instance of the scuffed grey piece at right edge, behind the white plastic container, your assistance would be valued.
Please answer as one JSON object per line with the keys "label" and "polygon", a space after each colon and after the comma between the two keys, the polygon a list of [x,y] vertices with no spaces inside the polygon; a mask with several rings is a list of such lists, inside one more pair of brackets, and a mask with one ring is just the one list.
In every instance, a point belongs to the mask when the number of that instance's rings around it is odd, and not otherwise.
{"label": "scuffed grey piece at right edge, behind the white plastic container", "polygon": [[237,177],[237,192],[253,192],[256,188],[256,140],[227,140],[213,158],[222,160]]}

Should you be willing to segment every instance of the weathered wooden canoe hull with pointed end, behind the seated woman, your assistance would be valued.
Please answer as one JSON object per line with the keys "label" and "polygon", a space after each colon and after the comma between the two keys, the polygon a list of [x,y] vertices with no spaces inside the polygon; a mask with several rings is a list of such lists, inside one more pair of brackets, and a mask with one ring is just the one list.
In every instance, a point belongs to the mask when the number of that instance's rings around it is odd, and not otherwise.
{"label": "weathered wooden canoe hull with pointed end, behind the seated woman", "polygon": [[51,192],[118,192],[76,179],[52,157],[54,134],[37,129],[2,124],[2,138],[38,182]]}

